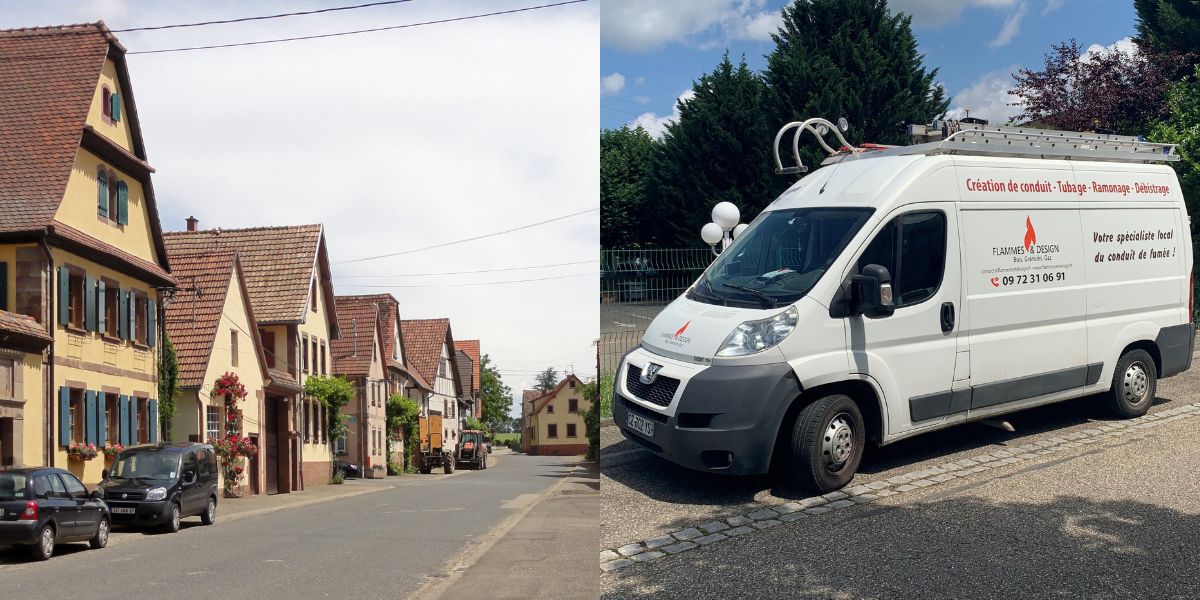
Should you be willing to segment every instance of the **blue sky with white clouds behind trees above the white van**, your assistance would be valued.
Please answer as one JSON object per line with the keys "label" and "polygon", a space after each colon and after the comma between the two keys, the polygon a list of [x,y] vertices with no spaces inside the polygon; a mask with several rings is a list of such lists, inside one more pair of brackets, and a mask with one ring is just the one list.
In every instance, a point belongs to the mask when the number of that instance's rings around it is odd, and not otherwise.
{"label": "blue sky with white clouds behind trees above the white van", "polygon": [[[676,98],[728,49],[751,68],[774,49],[785,0],[601,0],[600,125],[642,125],[660,136],[678,115]],[[1129,48],[1132,0],[890,0],[912,16],[926,67],[952,96],[950,116],[1004,122],[1012,73],[1039,70],[1050,46],[1072,37],[1087,47]],[[686,97],[686,96],[685,96]],[[836,115],[812,115],[833,118]]]}

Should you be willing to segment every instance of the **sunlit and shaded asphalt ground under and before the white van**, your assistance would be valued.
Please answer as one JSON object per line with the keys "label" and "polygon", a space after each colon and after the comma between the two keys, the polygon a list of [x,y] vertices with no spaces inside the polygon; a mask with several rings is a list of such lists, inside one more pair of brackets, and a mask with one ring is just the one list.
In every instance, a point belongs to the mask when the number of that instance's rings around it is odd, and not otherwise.
{"label": "sunlit and shaded asphalt ground under and before the white van", "polygon": [[[601,587],[610,598],[1200,598],[1198,401],[1193,370],[1160,382],[1151,414],[1171,421],[1127,426],[1084,398],[1013,415],[1013,433],[968,425],[886,446],[852,486],[1048,444],[634,564]],[[770,478],[685,472],[605,437],[602,548],[809,499]]]}

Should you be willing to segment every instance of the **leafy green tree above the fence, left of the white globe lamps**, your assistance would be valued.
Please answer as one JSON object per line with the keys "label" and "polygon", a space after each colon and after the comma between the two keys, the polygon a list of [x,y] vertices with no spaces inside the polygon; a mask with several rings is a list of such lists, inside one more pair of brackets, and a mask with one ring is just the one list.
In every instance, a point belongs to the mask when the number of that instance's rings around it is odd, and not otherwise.
{"label": "leafy green tree above the fence, left of the white globe lamps", "polygon": [[600,247],[653,245],[646,178],[655,142],[641,126],[600,132]]}

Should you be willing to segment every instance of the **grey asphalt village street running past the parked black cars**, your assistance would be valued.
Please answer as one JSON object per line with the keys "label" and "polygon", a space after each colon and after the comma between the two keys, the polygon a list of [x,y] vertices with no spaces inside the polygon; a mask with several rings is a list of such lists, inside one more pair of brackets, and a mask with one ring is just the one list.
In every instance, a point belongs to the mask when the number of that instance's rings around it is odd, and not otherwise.
{"label": "grey asphalt village street running past the parked black cars", "polygon": [[389,480],[394,490],[104,550],[59,546],[46,563],[0,551],[0,596],[122,599],[406,598],[534,502],[574,457],[511,455],[480,472]]}

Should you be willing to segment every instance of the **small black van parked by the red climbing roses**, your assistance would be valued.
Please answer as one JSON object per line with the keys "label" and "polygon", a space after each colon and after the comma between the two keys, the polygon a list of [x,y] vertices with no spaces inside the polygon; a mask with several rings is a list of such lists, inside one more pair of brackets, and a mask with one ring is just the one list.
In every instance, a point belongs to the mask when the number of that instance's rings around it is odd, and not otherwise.
{"label": "small black van parked by the red climbing roses", "polygon": [[96,486],[113,524],[161,526],[178,532],[184,517],[217,517],[217,457],[210,444],[174,442],[126,448]]}

